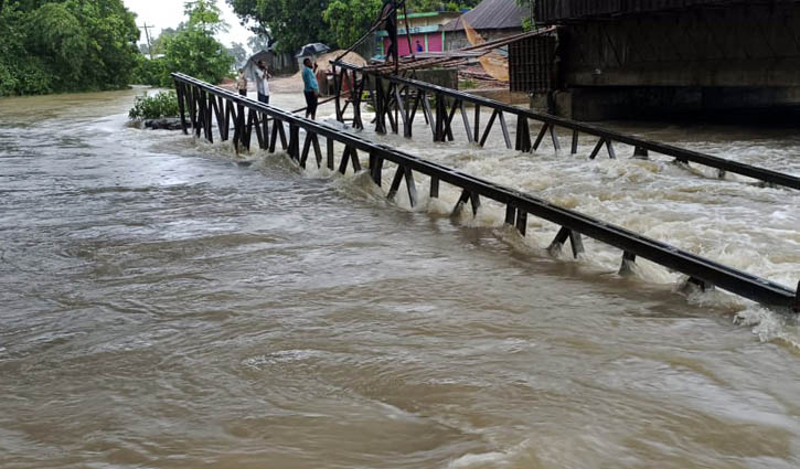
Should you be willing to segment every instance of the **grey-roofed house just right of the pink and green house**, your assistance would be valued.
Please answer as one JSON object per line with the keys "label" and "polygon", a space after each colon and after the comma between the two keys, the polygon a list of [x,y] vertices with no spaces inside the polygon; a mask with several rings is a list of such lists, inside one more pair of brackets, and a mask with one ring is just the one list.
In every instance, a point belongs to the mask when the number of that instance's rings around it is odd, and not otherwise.
{"label": "grey-roofed house just right of the pink and green house", "polygon": [[516,4],[516,0],[483,0],[472,10],[445,24],[445,50],[468,47],[463,21],[484,40],[505,38],[522,32],[522,19],[529,12]]}

